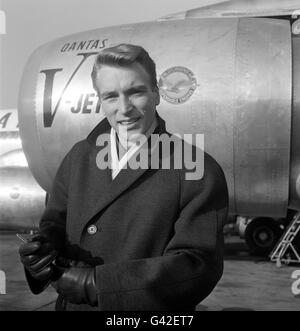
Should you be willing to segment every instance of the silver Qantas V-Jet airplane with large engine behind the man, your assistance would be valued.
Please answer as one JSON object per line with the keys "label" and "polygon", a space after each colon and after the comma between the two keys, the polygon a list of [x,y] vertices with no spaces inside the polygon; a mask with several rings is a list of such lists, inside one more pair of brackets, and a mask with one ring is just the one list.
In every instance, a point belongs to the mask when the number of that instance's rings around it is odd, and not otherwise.
{"label": "silver Qantas V-Jet airplane with large engine behind the man", "polygon": [[168,131],[204,134],[225,172],[230,219],[252,252],[268,253],[300,209],[299,9],[299,1],[212,1],[42,45],[18,103],[33,176],[49,192],[64,155],[104,118],[90,78],[96,54],[138,44],[157,64]]}

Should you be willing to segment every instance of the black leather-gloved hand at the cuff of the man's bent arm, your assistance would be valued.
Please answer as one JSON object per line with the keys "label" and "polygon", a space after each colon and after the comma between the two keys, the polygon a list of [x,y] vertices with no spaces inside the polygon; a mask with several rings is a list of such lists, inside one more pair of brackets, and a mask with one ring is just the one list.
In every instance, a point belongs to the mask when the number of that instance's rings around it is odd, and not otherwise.
{"label": "black leather-gloved hand at the cuff of the man's bent arm", "polygon": [[[52,286],[68,302],[75,304],[98,305],[95,268],[89,265],[62,268],[55,265]],[[54,278],[52,277],[52,279]]]}

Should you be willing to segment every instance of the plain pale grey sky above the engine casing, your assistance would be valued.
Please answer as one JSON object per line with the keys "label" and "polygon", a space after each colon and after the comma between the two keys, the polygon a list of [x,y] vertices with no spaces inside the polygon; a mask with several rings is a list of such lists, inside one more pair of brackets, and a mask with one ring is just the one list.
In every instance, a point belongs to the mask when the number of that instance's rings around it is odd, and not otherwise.
{"label": "plain pale grey sky above the engine casing", "polygon": [[212,0],[0,0],[6,35],[0,35],[0,109],[16,108],[30,54],[58,37],[98,27],[155,20]]}

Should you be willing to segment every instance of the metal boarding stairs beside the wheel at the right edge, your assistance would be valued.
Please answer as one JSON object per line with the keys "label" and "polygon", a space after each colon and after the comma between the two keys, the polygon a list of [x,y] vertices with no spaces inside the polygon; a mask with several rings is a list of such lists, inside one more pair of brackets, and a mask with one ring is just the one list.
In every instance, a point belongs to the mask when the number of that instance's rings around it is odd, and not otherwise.
{"label": "metal boarding stairs beside the wheel at the right edge", "polygon": [[276,262],[277,267],[281,267],[282,263],[300,263],[300,253],[297,252],[295,245],[293,245],[293,241],[299,231],[300,212],[297,212],[270,253],[270,259]]}

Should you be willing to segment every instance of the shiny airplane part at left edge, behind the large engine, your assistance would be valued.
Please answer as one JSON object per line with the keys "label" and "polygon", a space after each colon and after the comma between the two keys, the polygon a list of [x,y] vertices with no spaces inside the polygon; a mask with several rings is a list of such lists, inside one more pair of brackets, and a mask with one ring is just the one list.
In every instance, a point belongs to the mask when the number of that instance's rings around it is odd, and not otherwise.
{"label": "shiny airplane part at left edge, behind the large engine", "polygon": [[36,229],[45,208],[46,192],[29,170],[17,109],[0,110],[0,182],[0,229]]}

